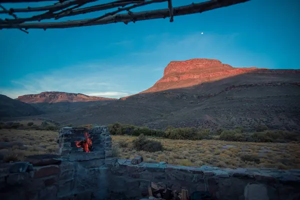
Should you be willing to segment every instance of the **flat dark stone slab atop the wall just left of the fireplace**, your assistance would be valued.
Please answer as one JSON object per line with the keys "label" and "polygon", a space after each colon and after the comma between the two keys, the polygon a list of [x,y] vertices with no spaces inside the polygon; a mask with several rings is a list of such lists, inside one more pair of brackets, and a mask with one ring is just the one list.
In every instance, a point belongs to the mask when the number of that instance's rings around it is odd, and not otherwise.
{"label": "flat dark stone slab atop the wall just left of the fireplace", "polygon": [[40,155],[28,155],[26,161],[32,163],[33,166],[44,166],[49,164],[58,164],[61,160],[57,160],[58,155],[55,154],[40,154]]}

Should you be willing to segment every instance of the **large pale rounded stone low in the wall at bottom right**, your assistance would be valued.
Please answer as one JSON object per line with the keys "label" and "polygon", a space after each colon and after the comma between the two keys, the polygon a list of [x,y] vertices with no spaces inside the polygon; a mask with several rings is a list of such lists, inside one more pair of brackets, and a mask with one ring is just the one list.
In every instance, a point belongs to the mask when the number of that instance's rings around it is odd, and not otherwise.
{"label": "large pale rounded stone low in the wall at bottom right", "polygon": [[245,200],[269,200],[266,186],[255,182],[250,182],[245,186],[244,196]]}

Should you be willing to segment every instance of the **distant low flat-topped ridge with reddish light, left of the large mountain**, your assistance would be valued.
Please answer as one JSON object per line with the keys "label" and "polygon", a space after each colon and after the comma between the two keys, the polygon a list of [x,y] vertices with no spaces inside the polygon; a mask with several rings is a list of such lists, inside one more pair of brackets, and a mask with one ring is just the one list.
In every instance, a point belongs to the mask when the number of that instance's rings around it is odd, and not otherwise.
{"label": "distant low flat-topped ridge with reddish light, left of the large mountain", "polygon": [[59,91],[44,91],[39,94],[26,94],[18,96],[16,100],[26,103],[55,103],[55,102],[78,102],[78,101],[99,101],[116,100],[115,98],[105,98],[99,96],[88,96],[81,93],[67,93]]}

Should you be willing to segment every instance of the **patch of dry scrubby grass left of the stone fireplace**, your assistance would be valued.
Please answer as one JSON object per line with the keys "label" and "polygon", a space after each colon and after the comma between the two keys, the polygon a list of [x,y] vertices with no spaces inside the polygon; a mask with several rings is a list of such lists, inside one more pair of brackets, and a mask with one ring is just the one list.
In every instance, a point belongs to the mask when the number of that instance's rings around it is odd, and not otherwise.
{"label": "patch of dry scrubby grass left of the stone fireplace", "polygon": [[57,131],[0,129],[0,141],[11,144],[1,145],[0,158],[4,161],[22,160],[26,155],[54,153],[57,148]]}

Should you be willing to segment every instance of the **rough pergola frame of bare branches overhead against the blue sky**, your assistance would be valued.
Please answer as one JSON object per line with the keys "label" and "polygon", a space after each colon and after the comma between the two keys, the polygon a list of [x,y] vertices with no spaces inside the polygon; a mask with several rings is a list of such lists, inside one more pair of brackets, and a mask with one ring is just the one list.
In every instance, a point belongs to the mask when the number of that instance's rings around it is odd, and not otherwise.
{"label": "rough pergola frame of bare branches overhead against the blue sky", "polygon": [[[14,2],[41,2],[49,0],[0,0],[0,3],[14,3]],[[204,11],[225,7],[248,0],[207,0],[200,3],[191,3],[189,5],[182,5],[178,7],[172,7],[171,0],[113,0],[109,3],[97,4],[92,6],[81,6],[89,2],[98,0],[59,0],[59,2],[41,6],[41,7],[25,7],[25,8],[9,8],[6,9],[3,4],[0,4],[0,13],[7,13],[13,18],[0,19],[0,29],[3,28],[18,28],[24,32],[27,32],[29,28],[69,28],[78,26],[100,25],[108,23],[123,22],[125,24],[129,22],[135,22],[139,20],[148,20],[155,18],[169,17],[169,21],[173,21],[174,16],[201,13]],[[155,9],[140,12],[132,12],[130,9],[135,7],[144,6],[152,3],[159,3],[167,1],[168,8]],[[89,12],[96,12],[100,10],[107,10],[116,8],[114,11],[107,12],[99,17],[78,19],[78,20],[66,20],[59,22],[39,22],[43,19],[59,19],[62,17],[73,16],[78,14],[84,14]],[[18,18],[17,12],[34,12],[45,11],[42,14],[33,15],[30,17]],[[119,13],[126,11],[127,13]],[[35,22],[34,22],[35,21]],[[38,22],[36,22],[38,21]],[[28,32],[27,32],[28,33]]]}

